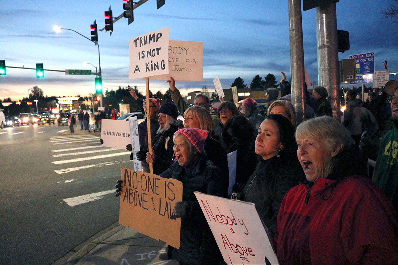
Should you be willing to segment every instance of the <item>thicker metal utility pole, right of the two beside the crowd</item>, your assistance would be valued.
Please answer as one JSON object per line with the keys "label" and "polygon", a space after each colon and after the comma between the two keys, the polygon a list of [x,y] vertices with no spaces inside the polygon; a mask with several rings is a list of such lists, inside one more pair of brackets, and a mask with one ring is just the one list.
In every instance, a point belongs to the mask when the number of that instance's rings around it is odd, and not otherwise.
{"label": "thicker metal utility pole, right of the two beside the crowd", "polygon": [[328,91],[333,117],[340,121],[340,80],[336,3],[315,8],[318,84]]}

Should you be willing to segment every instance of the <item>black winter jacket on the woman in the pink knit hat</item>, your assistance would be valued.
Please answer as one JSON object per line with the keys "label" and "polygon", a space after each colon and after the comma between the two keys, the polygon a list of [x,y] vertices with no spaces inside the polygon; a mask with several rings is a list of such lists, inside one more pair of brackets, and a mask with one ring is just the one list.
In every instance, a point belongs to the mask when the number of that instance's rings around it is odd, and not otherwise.
{"label": "black winter jacket on the woman in the pink knit hat", "polygon": [[220,250],[193,192],[226,197],[228,180],[222,179],[220,169],[205,152],[195,159],[195,163],[185,170],[175,161],[160,174],[163,178],[174,178],[183,183],[182,199],[190,205],[187,217],[181,219],[180,247],[169,248],[172,248],[172,258],[180,264],[220,264]]}

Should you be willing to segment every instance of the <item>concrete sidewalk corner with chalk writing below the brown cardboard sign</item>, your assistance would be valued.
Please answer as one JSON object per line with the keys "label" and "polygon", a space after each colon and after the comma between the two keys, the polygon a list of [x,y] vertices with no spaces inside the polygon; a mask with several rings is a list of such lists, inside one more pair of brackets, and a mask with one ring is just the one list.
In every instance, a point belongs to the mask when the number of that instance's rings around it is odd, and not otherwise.
{"label": "concrete sidewalk corner with chalk writing below the brown cardboard sign", "polygon": [[178,265],[176,260],[160,260],[167,244],[115,222],[86,242],[76,246],[53,265]]}

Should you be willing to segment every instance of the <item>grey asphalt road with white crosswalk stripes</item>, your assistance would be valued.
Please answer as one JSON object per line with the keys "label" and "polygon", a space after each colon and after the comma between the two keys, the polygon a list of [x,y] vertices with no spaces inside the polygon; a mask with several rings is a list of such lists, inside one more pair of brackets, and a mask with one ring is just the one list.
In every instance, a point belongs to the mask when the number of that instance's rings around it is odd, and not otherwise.
{"label": "grey asphalt road with white crosswalk stripes", "polygon": [[0,130],[2,265],[51,264],[119,219],[113,190],[120,166],[132,166],[129,153],[101,146],[98,132],[67,129]]}

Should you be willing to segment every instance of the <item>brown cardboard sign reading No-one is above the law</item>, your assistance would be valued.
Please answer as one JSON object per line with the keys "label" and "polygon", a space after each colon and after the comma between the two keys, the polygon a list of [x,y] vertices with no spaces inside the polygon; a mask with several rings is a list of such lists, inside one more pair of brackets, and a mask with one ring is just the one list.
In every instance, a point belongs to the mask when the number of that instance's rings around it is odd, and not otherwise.
{"label": "brown cardboard sign reading No-one is above the law", "polygon": [[181,218],[170,219],[182,201],[182,182],[121,167],[119,224],[179,248]]}

